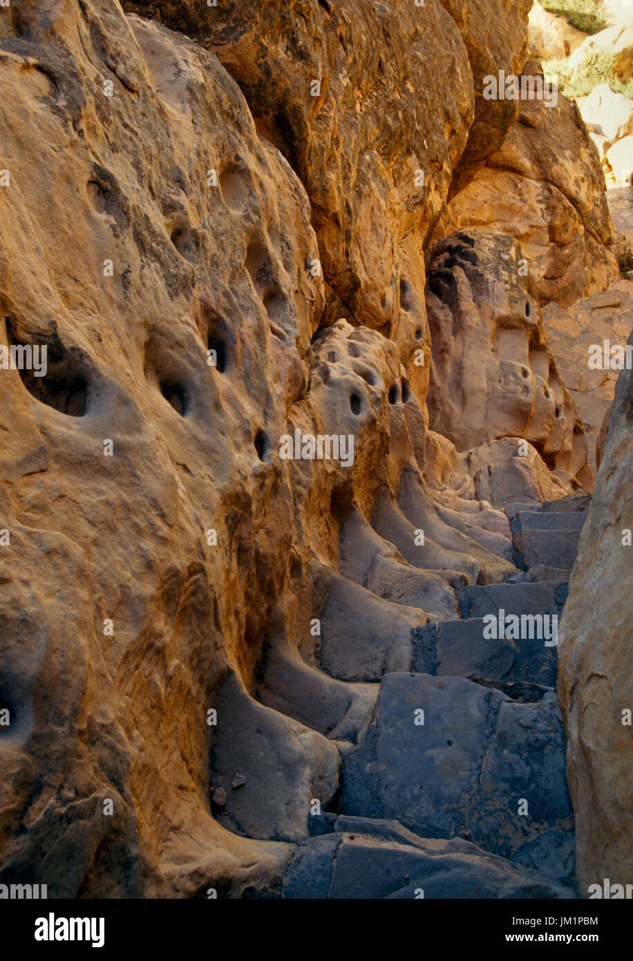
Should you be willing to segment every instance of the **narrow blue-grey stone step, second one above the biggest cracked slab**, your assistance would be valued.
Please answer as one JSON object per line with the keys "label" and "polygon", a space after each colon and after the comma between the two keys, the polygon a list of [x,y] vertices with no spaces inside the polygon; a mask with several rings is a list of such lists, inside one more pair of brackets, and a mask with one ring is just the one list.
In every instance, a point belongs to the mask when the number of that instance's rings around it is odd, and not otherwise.
{"label": "narrow blue-grey stone step, second one above the biggest cracked slab", "polygon": [[558,614],[567,600],[567,584],[542,579],[532,583],[469,584],[458,593],[463,618],[485,617],[501,607],[506,614]]}

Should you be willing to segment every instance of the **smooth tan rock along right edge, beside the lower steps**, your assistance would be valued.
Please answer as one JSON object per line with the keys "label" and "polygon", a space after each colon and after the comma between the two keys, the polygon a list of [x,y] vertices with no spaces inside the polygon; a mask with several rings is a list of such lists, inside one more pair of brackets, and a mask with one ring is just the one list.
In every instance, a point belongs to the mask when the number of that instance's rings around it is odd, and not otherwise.
{"label": "smooth tan rock along right edge, beside the lower steps", "polygon": [[[633,342],[633,341],[631,341]],[[631,691],[633,632],[633,375],[621,373],[560,624],[558,693],[568,731],[568,776],[582,897],[633,877]],[[627,533],[628,532],[628,533]],[[624,889],[625,890],[625,889]],[[612,889],[611,897],[624,897]]]}

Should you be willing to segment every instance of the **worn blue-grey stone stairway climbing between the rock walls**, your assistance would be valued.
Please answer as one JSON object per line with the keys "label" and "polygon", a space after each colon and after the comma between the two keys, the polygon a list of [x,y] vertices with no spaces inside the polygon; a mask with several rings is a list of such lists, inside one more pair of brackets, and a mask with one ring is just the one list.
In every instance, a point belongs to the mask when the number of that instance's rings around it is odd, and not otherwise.
{"label": "worn blue-grey stone stairway climbing between the rock walls", "polygon": [[[321,671],[273,640],[257,702],[245,705],[234,679],[226,685],[220,711],[234,720],[214,741],[213,811],[238,833],[297,845],[282,897],[575,897],[551,628],[588,507],[586,495],[507,505],[511,573],[475,583],[444,571],[435,583],[427,569],[422,578],[411,570],[401,605],[388,605],[391,624],[371,601],[389,593],[388,579],[365,572],[365,586],[354,587],[337,575],[323,612]],[[357,546],[373,537],[362,525],[353,535]],[[377,544],[370,546],[376,575]],[[344,568],[345,554],[342,544]],[[390,582],[402,588],[402,579]],[[420,606],[442,608],[423,625],[411,604],[420,590]],[[492,630],[490,615],[497,625],[518,619],[520,636]],[[529,636],[539,625],[543,636]],[[294,726],[297,752],[280,747],[280,724]],[[305,756],[308,793],[318,802],[306,822],[296,789]]]}

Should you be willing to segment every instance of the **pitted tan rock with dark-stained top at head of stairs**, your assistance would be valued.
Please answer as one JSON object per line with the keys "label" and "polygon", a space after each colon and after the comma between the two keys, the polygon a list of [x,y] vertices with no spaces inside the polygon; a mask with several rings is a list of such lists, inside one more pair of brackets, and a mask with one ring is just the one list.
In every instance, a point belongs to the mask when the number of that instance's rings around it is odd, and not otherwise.
{"label": "pitted tan rock with dark-stained top at head of stairs", "polygon": [[521,253],[509,237],[484,231],[451,234],[433,252],[430,426],[460,452],[523,437],[550,468],[589,480],[586,439],[534,288],[519,272]]}

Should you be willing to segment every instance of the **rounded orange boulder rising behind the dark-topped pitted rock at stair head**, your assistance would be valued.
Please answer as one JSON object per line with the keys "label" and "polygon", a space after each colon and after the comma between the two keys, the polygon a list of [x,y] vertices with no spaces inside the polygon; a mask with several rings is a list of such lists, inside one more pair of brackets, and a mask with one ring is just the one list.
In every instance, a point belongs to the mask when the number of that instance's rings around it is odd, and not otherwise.
{"label": "rounded orange boulder rising behind the dark-topped pitted rock at stair head", "polygon": [[596,150],[560,92],[555,107],[522,100],[501,149],[450,202],[441,231],[473,227],[521,242],[542,304],[572,304],[618,278]]}

